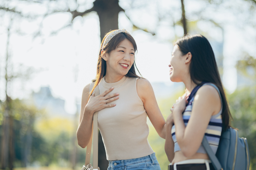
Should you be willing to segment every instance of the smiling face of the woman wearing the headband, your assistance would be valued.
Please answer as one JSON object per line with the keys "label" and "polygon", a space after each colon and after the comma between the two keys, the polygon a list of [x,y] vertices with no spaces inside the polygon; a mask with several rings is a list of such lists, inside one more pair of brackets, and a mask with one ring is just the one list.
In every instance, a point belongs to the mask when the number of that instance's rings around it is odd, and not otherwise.
{"label": "smiling face of the woman wearing the headband", "polygon": [[106,75],[126,75],[134,62],[134,54],[133,44],[128,39],[124,39],[115,50],[103,56],[107,66]]}

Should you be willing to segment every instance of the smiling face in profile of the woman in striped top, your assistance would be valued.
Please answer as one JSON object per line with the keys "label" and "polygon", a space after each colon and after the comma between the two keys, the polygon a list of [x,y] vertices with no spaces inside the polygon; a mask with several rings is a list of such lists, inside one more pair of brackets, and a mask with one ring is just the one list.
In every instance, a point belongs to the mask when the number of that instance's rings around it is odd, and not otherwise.
{"label": "smiling face in profile of the woman in striped top", "polygon": [[185,57],[182,56],[182,53],[178,47],[175,45],[173,47],[173,52],[171,53],[170,60],[170,80],[172,82],[182,82],[182,77],[185,75]]}

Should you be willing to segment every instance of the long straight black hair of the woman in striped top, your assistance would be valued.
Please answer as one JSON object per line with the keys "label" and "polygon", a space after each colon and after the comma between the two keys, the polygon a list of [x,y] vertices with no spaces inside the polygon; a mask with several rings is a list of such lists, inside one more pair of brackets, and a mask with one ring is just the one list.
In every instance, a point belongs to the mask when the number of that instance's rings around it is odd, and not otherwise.
{"label": "long straight black hair of the woman in striped top", "polygon": [[178,45],[182,55],[191,52],[192,58],[189,69],[191,80],[194,83],[210,82],[219,88],[222,100],[223,130],[231,127],[232,115],[229,111],[227,97],[209,41],[204,36],[197,34],[193,36],[186,35],[174,44]]}

